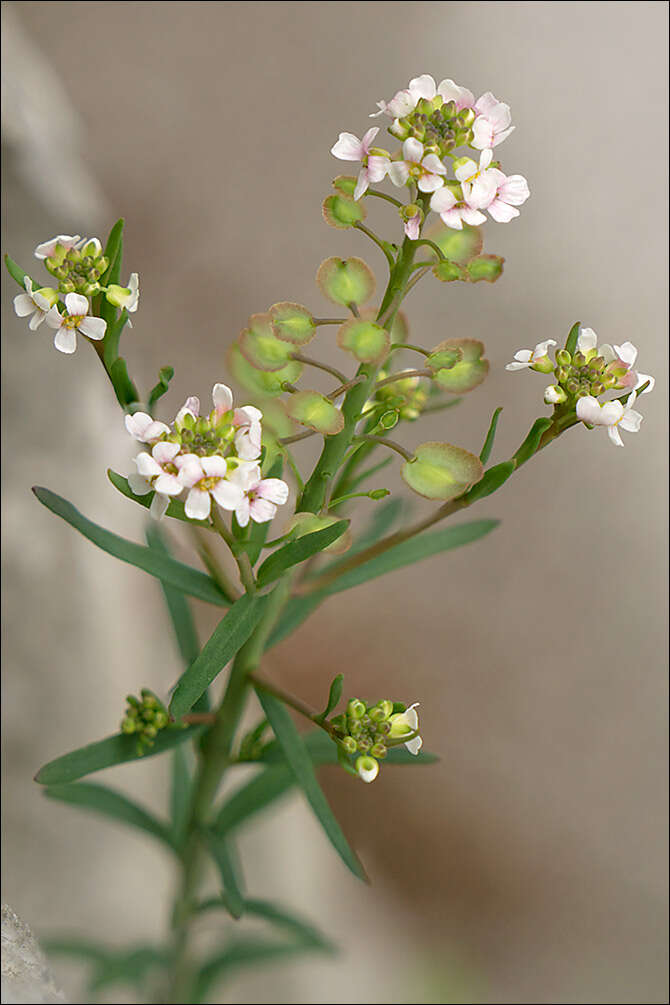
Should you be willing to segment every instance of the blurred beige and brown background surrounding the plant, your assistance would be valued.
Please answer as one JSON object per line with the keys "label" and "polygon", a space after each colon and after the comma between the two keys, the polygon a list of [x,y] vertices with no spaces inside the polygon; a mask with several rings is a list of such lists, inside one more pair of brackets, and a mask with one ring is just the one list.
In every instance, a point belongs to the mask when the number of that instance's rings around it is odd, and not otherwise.
{"label": "blurred beige and brown background surrounding the plant", "polygon": [[[277,679],[314,703],[341,670],[353,692],[420,700],[442,760],[370,787],[324,773],[370,889],[298,797],[276,831],[250,829],[251,888],[320,918],[344,955],[237,979],[220,1000],[336,1002],[344,980],[360,1002],[666,1001],[667,5],[56,2],[3,15],[2,249],[26,266],[52,233],[102,236],[127,218],[143,300],[126,354],[142,386],[176,366],[166,416],[226,379],[249,314],[278,299],[323,310],[321,258],[361,254],[382,278],[378,251],[320,217],[340,131],[360,135],[376,100],[421,72],[511,105],[501,155],[532,195],[520,219],[486,227],[503,277],[426,280],[407,305],[417,341],[483,339],[491,376],[406,442],[478,448],[502,404],[502,459],[543,388],[504,363],[578,318],[638,345],[657,389],[624,450],[574,430],[479,507],[502,519],[490,538],[332,598],[273,654]],[[374,219],[396,226],[384,206]],[[131,448],[94,354],[53,352],[14,318],[5,275],[3,290],[3,896],[37,932],[156,939],[163,852],[31,782],[111,732],[129,689],[165,690],[179,670],[154,581],[28,491],[46,484],[139,540],[140,515],[104,476]],[[205,638],[212,612],[199,618]],[[161,807],[161,764],[111,780]],[[75,973],[62,977],[77,1000]]]}

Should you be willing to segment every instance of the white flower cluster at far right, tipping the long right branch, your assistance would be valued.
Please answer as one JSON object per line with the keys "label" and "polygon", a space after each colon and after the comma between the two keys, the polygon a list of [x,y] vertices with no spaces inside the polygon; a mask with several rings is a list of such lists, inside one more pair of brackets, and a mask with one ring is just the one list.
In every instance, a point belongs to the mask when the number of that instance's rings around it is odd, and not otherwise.
{"label": "white flower cluster at far right, tipping the long right branch", "polygon": [[[536,370],[553,373],[555,383],[544,391],[544,401],[556,409],[575,409],[578,419],[588,426],[606,426],[610,439],[623,446],[620,429],[636,433],[642,415],[633,408],[638,394],[653,390],[655,381],[635,369],[638,351],[631,342],[622,346],[599,346],[598,336],[591,328],[582,328],[575,352],[560,349],[555,361],[549,358],[553,339],[539,342],[534,349],[519,349],[506,370]],[[611,391],[629,391],[628,400],[599,401]]]}

